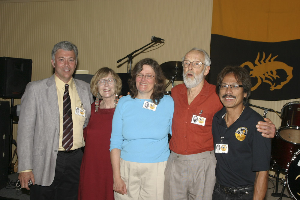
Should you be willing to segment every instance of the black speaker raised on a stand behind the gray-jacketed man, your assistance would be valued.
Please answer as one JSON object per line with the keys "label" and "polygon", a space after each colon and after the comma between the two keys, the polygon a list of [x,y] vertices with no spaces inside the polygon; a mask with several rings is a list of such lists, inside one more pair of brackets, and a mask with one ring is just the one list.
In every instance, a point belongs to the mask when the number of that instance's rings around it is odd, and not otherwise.
{"label": "black speaker raised on a stand behind the gray-jacketed man", "polygon": [[0,97],[20,99],[31,81],[32,60],[0,58]]}

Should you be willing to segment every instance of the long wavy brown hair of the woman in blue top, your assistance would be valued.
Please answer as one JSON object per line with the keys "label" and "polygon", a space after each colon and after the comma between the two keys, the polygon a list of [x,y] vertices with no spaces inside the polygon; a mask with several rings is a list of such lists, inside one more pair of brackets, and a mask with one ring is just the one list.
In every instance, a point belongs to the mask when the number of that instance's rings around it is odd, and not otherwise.
{"label": "long wavy brown hair of the woman in blue top", "polygon": [[140,60],[131,70],[131,79],[129,80],[129,89],[131,98],[136,98],[138,94],[136,81],[137,74],[143,70],[143,65],[150,65],[155,72],[155,85],[153,88],[153,93],[151,94],[151,100],[155,104],[159,104],[161,98],[164,97],[166,91],[166,78],[164,76],[163,71],[161,70],[161,66],[159,66],[158,62],[153,60],[152,58],[144,58]]}

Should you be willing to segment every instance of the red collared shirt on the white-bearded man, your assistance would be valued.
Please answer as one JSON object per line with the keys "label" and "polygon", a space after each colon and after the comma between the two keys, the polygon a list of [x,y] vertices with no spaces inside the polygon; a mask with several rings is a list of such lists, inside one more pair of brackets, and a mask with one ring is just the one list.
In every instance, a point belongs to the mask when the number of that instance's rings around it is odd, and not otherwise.
{"label": "red collared shirt on the white-bearded man", "polygon": [[[200,93],[188,104],[187,88],[179,84],[172,88],[175,107],[172,121],[172,138],[170,149],[177,154],[198,154],[214,150],[211,133],[212,118],[223,105],[215,92],[215,85],[206,80]],[[206,118],[205,126],[192,124],[193,115]]]}

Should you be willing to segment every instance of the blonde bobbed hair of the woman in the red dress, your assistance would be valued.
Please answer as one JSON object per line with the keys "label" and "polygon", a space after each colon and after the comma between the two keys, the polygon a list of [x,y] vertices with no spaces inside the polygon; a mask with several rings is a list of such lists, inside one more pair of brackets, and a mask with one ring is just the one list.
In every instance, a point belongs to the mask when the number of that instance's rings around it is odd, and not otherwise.
{"label": "blonde bobbed hair of the woman in the red dress", "polygon": [[[97,93],[98,93],[98,85],[97,85],[97,81],[99,81],[100,79],[103,79],[104,77],[107,77],[109,74],[111,74],[113,76],[113,79],[115,79],[115,92],[119,95],[121,93],[121,89],[122,89],[122,80],[120,79],[120,77],[118,76],[118,74],[108,68],[108,67],[103,67],[100,68],[95,75],[93,76],[93,78],[91,79],[91,93],[96,97]],[[99,99],[102,99],[102,96],[99,95]]]}

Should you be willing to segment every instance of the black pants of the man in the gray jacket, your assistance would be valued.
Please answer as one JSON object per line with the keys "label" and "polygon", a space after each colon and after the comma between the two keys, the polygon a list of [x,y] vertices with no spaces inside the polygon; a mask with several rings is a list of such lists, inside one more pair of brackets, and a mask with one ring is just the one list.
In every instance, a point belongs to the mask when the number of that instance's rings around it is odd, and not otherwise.
{"label": "black pants of the man in the gray jacket", "polygon": [[30,200],[77,200],[82,151],[58,151],[54,180],[50,186],[30,187]]}

